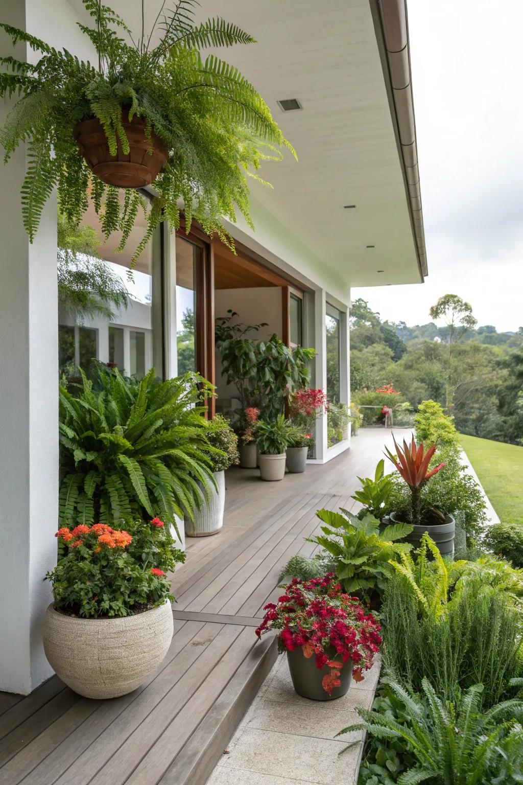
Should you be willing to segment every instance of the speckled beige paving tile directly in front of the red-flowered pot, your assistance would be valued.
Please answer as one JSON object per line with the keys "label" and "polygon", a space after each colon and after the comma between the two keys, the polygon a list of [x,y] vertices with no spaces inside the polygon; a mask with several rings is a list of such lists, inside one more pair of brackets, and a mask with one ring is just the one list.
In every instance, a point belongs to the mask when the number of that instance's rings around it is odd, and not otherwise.
{"label": "speckled beige paving tile directly in front of the red-flowered pot", "polygon": [[[264,699],[253,707],[244,726],[258,730],[294,733],[296,736],[334,739],[340,730],[360,721],[355,711],[333,710],[319,701],[309,701],[308,704],[296,706],[295,703]],[[353,731],[340,736],[336,741],[360,741],[362,736],[362,731]]]}

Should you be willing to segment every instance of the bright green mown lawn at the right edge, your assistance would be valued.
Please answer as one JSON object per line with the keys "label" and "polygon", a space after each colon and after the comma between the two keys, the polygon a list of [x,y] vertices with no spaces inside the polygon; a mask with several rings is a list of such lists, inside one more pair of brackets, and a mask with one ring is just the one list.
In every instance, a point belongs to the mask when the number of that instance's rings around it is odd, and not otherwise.
{"label": "bright green mown lawn at the right edge", "polygon": [[459,441],[503,523],[523,521],[523,447],[459,434]]}

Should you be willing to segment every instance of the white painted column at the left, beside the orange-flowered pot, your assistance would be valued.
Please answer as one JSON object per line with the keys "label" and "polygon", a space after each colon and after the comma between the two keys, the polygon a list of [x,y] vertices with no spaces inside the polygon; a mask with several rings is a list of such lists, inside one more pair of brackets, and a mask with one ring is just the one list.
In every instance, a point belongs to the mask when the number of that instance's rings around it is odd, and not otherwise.
{"label": "white painted column at the left, beside the orange-flowered pot", "polygon": [[[0,0],[0,18],[25,28],[25,3]],[[0,52],[13,55],[3,31]],[[20,43],[15,57],[26,54]],[[2,124],[10,105],[0,102]],[[30,245],[19,195],[25,163],[22,146],[0,168],[0,689],[22,694],[52,674],[43,578],[56,564],[58,520],[56,199]]]}

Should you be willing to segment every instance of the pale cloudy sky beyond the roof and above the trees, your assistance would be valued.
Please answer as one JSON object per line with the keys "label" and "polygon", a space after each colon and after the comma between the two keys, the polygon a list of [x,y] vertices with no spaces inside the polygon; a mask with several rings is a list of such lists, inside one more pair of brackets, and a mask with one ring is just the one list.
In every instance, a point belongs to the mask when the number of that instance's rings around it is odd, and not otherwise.
{"label": "pale cloudy sky beyond the roof and above the trees", "polygon": [[523,3],[409,0],[429,275],[358,288],[383,319],[430,321],[442,294],[480,324],[523,325]]}

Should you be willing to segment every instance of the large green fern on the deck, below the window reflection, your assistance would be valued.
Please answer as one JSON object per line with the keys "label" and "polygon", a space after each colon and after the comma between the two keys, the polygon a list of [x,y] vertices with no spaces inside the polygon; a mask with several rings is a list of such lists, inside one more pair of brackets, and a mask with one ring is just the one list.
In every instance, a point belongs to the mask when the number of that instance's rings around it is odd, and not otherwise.
{"label": "large green fern on the deck, below the window reflection", "polygon": [[[81,371],[82,373],[82,371]],[[101,376],[101,392],[82,374],[78,396],[60,387],[60,523],[118,524],[159,516],[193,517],[214,484],[204,411],[208,384],[198,374],[141,382],[118,371]]]}

